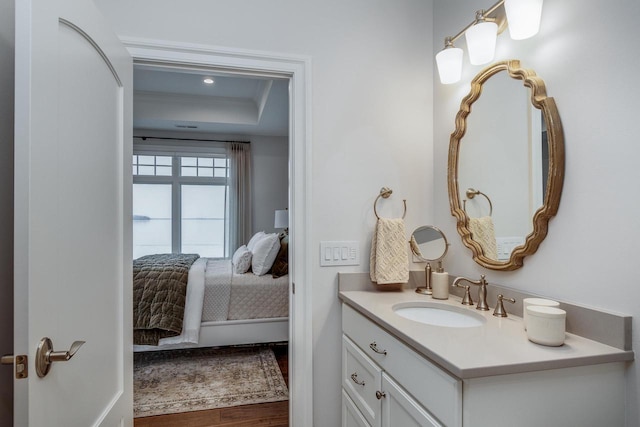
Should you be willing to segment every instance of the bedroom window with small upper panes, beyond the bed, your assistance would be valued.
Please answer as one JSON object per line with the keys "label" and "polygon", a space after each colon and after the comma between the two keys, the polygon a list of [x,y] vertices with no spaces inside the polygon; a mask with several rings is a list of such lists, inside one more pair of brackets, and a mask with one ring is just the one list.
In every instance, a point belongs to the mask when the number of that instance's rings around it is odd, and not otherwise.
{"label": "bedroom window with small upper panes, beyond the bed", "polygon": [[229,255],[229,161],[224,154],[133,156],[133,256]]}

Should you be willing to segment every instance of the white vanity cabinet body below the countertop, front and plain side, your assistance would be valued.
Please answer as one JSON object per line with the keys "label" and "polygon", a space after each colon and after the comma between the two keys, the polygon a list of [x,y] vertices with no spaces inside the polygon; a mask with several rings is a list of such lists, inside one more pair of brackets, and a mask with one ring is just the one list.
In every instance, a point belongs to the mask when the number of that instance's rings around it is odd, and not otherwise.
{"label": "white vanity cabinet body below the countertop, front and plain side", "polygon": [[343,427],[624,426],[625,362],[461,379],[347,304],[342,316]]}

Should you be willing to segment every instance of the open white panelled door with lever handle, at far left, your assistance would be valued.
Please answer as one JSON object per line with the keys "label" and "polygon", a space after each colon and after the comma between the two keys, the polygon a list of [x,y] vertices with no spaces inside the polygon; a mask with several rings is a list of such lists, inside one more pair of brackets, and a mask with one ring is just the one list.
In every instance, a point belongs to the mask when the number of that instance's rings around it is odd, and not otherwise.
{"label": "open white panelled door with lever handle, at far left", "polygon": [[131,87],[90,0],[16,1],[15,426],[132,424]]}

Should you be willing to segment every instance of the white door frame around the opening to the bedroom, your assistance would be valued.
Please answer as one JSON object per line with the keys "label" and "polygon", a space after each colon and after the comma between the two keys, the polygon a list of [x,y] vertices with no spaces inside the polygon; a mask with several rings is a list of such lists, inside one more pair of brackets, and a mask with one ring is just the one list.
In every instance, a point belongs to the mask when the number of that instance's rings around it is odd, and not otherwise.
{"label": "white door frame around the opening to the bedroom", "polygon": [[[289,424],[313,425],[311,58],[121,37],[136,64],[289,78]],[[298,283],[300,286],[295,286]]]}

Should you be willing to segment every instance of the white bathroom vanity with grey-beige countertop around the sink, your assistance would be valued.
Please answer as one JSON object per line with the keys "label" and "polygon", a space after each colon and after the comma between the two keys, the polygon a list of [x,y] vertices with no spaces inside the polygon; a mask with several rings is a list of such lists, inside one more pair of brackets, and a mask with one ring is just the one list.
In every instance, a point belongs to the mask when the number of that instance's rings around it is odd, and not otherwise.
{"label": "white bathroom vanity with grey-beige countertop around the sink", "polygon": [[[341,291],[342,425],[623,426],[624,351],[567,333],[564,345],[528,341],[522,319],[412,289]],[[401,307],[469,311],[480,324],[437,326]]]}

